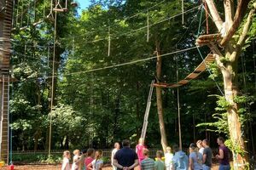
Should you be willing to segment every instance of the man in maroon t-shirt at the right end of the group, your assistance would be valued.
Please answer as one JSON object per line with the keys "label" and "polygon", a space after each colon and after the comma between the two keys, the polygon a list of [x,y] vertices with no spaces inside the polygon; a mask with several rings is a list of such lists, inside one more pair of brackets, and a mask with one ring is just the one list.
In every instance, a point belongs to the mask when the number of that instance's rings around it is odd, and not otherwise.
{"label": "man in maroon t-shirt at the right end of the group", "polygon": [[230,170],[230,150],[224,144],[224,138],[218,137],[217,143],[218,155],[215,156],[218,159],[219,167],[218,170]]}

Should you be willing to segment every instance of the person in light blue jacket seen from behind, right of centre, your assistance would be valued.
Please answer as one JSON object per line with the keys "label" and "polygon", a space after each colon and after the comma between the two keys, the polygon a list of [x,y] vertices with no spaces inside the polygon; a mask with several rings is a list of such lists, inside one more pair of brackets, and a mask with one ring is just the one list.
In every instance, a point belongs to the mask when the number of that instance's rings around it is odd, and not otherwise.
{"label": "person in light blue jacket seen from behind, right of centre", "polygon": [[174,144],[173,151],[175,152],[173,158],[172,158],[172,168],[174,170],[188,170],[189,169],[189,157],[186,156],[186,154],[180,150],[177,146],[177,144]]}

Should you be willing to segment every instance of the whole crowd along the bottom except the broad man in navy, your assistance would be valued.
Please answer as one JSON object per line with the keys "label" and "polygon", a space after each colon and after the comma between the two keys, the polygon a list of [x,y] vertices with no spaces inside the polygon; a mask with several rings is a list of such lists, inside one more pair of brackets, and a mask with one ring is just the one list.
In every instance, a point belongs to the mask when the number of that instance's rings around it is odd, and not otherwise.
{"label": "whole crowd along the bottom except the broad man in navy", "polygon": [[[218,138],[220,146],[219,153],[216,158],[219,160],[220,168],[230,169],[229,150],[224,145],[224,139]],[[115,153],[120,149],[119,143],[114,144],[111,162],[113,170],[117,167],[113,165]],[[173,153],[172,153],[173,151]],[[166,153],[161,150],[156,152],[155,161],[149,157],[148,149],[144,146],[144,140],[139,139],[136,146],[137,158],[139,161],[139,169],[141,170],[210,170],[212,167],[212,150],[209,147],[207,139],[197,141],[196,144],[189,145],[189,156],[179,149],[177,144],[166,147]],[[73,151],[73,164],[71,170],[102,170],[102,150],[88,149],[80,155],[79,150]],[[70,153],[64,151],[61,170],[70,170],[69,165]]]}

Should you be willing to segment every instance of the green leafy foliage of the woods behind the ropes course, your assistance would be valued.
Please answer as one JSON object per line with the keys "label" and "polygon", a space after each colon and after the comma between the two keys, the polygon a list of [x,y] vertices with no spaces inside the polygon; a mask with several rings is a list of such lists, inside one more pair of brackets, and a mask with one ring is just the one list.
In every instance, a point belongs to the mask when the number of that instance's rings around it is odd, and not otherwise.
{"label": "green leafy foliage of the woods behind the ropes course", "polygon": [[[123,65],[108,69],[112,65],[147,59],[154,56],[155,42],[160,42],[160,54],[195,45],[201,9],[184,14],[182,25],[181,2],[163,2],[160,0],[93,1],[90,8],[84,9],[81,16],[76,9],[68,13],[58,13],[57,43],[55,61],[53,60],[54,23],[50,20],[38,26],[32,21],[20,19],[15,26],[28,25],[26,30],[13,31],[12,75],[17,79],[13,83],[10,101],[14,150],[48,149],[49,116],[52,116],[52,148],[84,149],[88,147],[109,148],[113,142],[131,139],[137,144],[143,126],[143,114],[147,105],[149,83],[155,78],[155,59]],[[29,2],[25,2],[23,7]],[[159,3],[159,4],[158,4]],[[151,8],[156,5],[154,8]],[[185,10],[197,4],[185,2]],[[49,2],[39,1],[38,18],[44,18],[49,12]],[[21,10],[21,6],[17,6]],[[148,10],[147,13],[147,9]],[[16,10],[15,10],[16,11]],[[136,15],[134,15],[136,14]],[[172,16],[177,17],[169,19]],[[15,15],[16,16],[16,15]],[[23,19],[29,19],[25,14]],[[132,17],[130,17],[132,16]],[[149,18],[149,41],[147,42],[147,17]],[[33,19],[33,20],[32,20]],[[163,21],[164,20],[164,21]],[[209,23],[211,25],[211,22]],[[253,37],[255,31],[250,33]],[[111,47],[108,56],[108,27],[110,28]],[[210,26],[213,30],[214,26]],[[202,23],[201,33],[205,31]],[[212,33],[211,32],[211,33]],[[251,41],[248,41],[248,44]],[[247,96],[255,94],[253,83],[252,46],[243,54],[247,63]],[[206,56],[208,49],[203,48]],[[178,59],[176,63],[176,58]],[[161,82],[177,82],[186,77],[201,63],[196,50],[170,54],[162,57]],[[223,62],[227,62],[223,60]],[[51,68],[55,63],[55,88],[53,111],[50,111]],[[177,65],[177,67],[176,67]],[[216,64],[211,66],[212,75],[220,88],[220,72]],[[241,71],[239,70],[239,73]],[[219,94],[215,82],[208,79],[207,72],[197,80],[189,82],[180,89],[180,107],[182,114],[183,144],[188,146],[195,139],[205,138],[205,126],[216,133],[227,133],[226,110],[230,104],[223,97],[207,98]],[[241,85],[241,78],[239,83]],[[242,89],[243,90],[243,89]],[[154,92],[155,93],[155,92]],[[255,95],[254,95],[255,96]],[[169,143],[178,142],[177,132],[177,89],[163,89],[163,111],[166,133]],[[216,104],[216,100],[218,100]],[[247,103],[252,107],[254,99],[236,97],[241,122],[247,120]],[[215,109],[215,110],[214,110]],[[214,111],[218,113],[213,114]],[[255,113],[254,113],[255,114]],[[251,116],[251,115],[250,115]],[[253,115],[251,119],[253,120]],[[201,123],[206,122],[206,123]],[[211,122],[207,124],[207,122]],[[195,127],[195,124],[201,126]],[[153,94],[148,118],[146,142],[149,147],[160,145],[159,123],[156,99]],[[38,148],[34,148],[38,144]],[[31,156],[35,161],[46,162],[47,156]],[[31,158],[31,159],[32,159]],[[17,157],[17,159],[21,159]],[[22,158],[22,160],[29,159]],[[107,159],[107,158],[106,158]],[[57,161],[51,157],[48,162]],[[106,160],[107,161],[107,160]]]}

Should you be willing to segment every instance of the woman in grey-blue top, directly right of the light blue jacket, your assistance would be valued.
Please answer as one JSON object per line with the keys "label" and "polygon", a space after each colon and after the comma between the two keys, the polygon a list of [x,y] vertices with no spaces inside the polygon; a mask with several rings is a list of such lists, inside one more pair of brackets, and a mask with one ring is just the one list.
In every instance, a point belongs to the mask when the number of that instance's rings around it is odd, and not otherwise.
{"label": "woman in grey-blue top, directly right of the light blue jacket", "polygon": [[202,170],[202,155],[195,144],[189,146],[189,167],[190,170]]}

